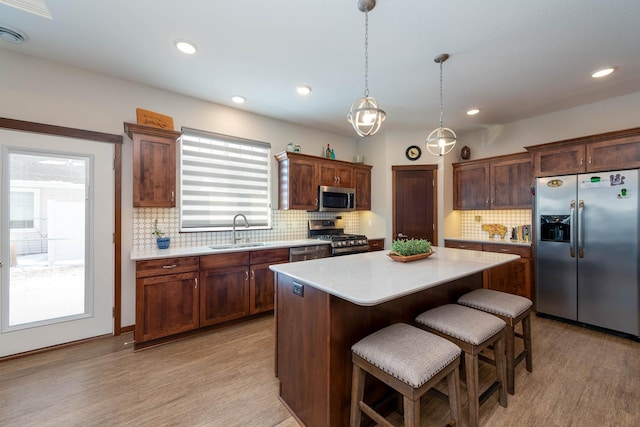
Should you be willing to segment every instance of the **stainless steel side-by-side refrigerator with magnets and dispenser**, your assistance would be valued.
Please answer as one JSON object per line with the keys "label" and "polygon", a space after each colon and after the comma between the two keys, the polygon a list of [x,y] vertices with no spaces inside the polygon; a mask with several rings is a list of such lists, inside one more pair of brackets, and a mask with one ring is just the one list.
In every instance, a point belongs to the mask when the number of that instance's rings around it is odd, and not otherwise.
{"label": "stainless steel side-by-side refrigerator with magnets and dispenser", "polygon": [[536,180],[536,310],[640,336],[637,169]]}

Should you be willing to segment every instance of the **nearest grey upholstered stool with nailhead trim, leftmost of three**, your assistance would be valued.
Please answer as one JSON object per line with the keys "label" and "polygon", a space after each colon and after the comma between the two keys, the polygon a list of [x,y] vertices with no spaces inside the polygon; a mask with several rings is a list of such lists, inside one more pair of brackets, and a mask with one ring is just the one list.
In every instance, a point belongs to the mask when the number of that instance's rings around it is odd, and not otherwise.
{"label": "nearest grey upholstered stool with nailhead trim, leftmost of three", "polygon": [[364,401],[367,373],[402,394],[404,425],[420,425],[420,398],[447,378],[451,417],[460,420],[460,348],[413,326],[396,323],[361,339],[351,347],[351,426],[359,427],[362,412],[376,423],[391,426]]}

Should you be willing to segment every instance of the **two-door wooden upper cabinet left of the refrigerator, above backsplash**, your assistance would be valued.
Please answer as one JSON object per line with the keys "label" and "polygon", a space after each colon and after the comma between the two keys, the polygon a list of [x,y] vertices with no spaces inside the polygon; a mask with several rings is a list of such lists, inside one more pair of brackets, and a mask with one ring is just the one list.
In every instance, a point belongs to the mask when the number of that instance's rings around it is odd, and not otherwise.
{"label": "two-door wooden upper cabinet left of the refrigerator, above backsplash", "polygon": [[530,209],[529,153],[453,164],[453,208]]}

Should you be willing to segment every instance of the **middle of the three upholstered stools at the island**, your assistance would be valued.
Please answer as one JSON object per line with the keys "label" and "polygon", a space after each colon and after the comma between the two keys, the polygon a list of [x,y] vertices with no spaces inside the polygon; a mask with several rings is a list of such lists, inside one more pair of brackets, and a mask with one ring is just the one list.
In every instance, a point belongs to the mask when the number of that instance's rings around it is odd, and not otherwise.
{"label": "middle of the three upholstered stools at the island", "polygon": [[[458,345],[464,352],[470,426],[478,425],[480,404],[496,390],[499,392],[500,405],[507,407],[504,321],[479,310],[447,304],[420,314],[416,317],[416,323]],[[497,381],[480,395],[478,356],[491,345],[494,348]]]}

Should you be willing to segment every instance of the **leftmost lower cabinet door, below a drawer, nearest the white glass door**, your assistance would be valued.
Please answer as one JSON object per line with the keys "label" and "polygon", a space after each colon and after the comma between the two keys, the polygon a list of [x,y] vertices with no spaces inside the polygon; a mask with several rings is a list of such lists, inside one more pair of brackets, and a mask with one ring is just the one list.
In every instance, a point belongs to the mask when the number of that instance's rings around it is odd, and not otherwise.
{"label": "leftmost lower cabinet door, below a drawer, nearest the white glass door", "polygon": [[198,273],[136,280],[136,343],[189,331],[199,326]]}

